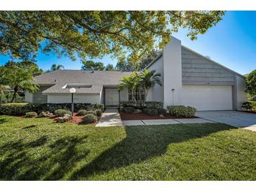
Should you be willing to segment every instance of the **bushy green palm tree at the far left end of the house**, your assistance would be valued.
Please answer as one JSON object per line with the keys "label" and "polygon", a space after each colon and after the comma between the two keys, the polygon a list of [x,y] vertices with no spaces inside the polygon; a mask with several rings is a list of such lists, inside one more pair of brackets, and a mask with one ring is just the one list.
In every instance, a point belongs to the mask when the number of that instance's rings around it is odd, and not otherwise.
{"label": "bushy green palm tree at the far left end of the house", "polygon": [[19,90],[28,90],[35,92],[39,89],[39,85],[34,83],[32,69],[24,69],[21,67],[11,67],[8,74],[8,85],[13,88],[11,102],[18,97]]}

